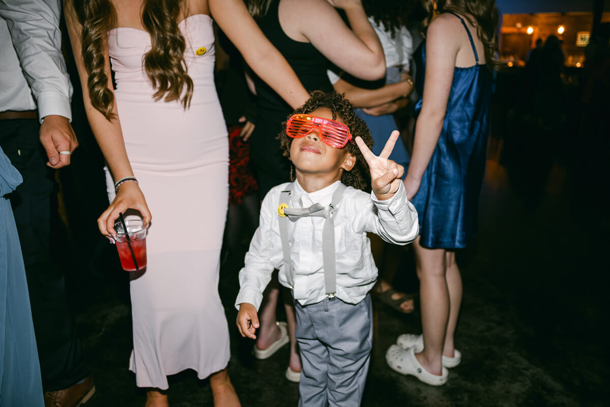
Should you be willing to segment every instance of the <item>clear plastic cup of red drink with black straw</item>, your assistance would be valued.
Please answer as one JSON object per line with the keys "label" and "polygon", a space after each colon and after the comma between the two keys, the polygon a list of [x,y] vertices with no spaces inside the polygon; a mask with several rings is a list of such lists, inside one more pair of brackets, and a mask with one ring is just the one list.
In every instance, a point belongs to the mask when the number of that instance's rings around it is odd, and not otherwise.
{"label": "clear plastic cup of red drink with black straw", "polygon": [[142,219],[129,219],[125,221],[127,234],[121,222],[115,224],[117,231],[117,250],[121,259],[121,266],[127,272],[135,272],[146,267],[146,231]]}

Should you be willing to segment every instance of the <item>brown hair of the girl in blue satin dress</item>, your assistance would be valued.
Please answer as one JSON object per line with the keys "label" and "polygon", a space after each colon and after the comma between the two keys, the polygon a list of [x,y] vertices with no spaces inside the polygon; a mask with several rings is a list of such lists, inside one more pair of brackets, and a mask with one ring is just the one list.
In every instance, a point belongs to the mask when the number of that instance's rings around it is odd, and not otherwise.
{"label": "brown hair of the girl in blue satin dress", "polygon": [[[436,8],[434,4],[436,3]],[[431,0],[425,1],[428,19],[423,26],[427,27],[437,12],[454,12],[463,16],[476,27],[476,34],[483,42],[485,60],[490,69],[500,69],[502,63],[498,60],[498,22],[500,16],[495,0]]]}

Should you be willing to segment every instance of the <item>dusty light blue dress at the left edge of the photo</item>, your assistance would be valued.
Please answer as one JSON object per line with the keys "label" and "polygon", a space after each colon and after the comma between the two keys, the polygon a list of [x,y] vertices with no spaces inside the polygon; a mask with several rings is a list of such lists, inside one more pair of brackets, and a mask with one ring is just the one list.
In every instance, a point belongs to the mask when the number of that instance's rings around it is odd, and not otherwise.
{"label": "dusty light blue dress at the left edge of the photo", "polygon": [[21,245],[7,193],[20,173],[0,148],[0,406],[44,406]]}

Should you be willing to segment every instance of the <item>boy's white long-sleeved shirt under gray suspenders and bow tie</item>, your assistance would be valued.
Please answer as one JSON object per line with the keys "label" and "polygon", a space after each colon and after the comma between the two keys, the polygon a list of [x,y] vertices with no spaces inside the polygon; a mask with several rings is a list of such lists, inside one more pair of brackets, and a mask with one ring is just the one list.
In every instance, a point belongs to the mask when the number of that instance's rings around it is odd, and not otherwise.
{"label": "boy's white long-sleeved shirt under gray suspenders and bow tie", "polygon": [[[332,193],[340,181],[321,190],[307,193],[297,181],[293,183],[289,207],[309,207],[320,203],[329,206]],[[287,184],[267,193],[260,208],[260,224],[256,230],[245,267],[239,272],[240,291],[235,301],[253,304],[259,309],[263,291],[274,268],[279,270],[279,282],[289,287],[284,272],[282,240],[279,235],[279,198]],[[387,201],[379,201],[371,194],[348,187],[334,211],[335,252],[337,268],[336,297],[346,303],[357,304],[366,297],[377,279],[377,267],[371,254],[367,232],[378,234],[386,242],[404,245],[417,237],[417,211],[407,200],[404,186]],[[324,261],[322,258],[322,230],[325,218],[304,217],[288,221],[290,260],[295,273],[293,295],[299,303],[315,304],[326,297]]]}

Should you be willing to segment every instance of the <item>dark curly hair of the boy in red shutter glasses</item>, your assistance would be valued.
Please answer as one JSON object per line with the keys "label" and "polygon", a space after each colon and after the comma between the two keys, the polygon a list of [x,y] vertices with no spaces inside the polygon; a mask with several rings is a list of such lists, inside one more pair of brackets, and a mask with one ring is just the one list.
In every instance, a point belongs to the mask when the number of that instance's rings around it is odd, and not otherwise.
{"label": "dark curly hair of the boy in red shutter glasses", "polygon": [[[364,140],[364,143],[368,148],[373,148],[373,137],[371,136],[371,131],[367,127],[367,123],[354,114],[354,109],[351,106],[350,101],[345,99],[345,94],[339,95],[337,92],[325,93],[320,90],[315,90],[310,93],[310,98],[307,99],[303,106],[298,107],[294,112],[290,113],[290,116],[282,123],[282,132],[278,135],[278,139],[284,150],[284,157],[290,157],[290,145],[292,145],[292,138],[288,137],[286,134],[286,123],[288,118],[296,114],[311,113],[315,109],[318,109],[318,107],[331,109],[332,119],[337,120],[337,116],[339,116],[340,120],[348,126],[351,132],[353,142],[348,142],[344,148],[347,148],[350,154],[356,156],[356,164],[351,171],[343,171],[341,182],[356,189],[367,189],[368,181],[370,179],[367,160],[362,156],[362,153],[354,140],[358,136],[362,137],[362,140]],[[294,165],[291,163],[290,180],[294,181],[294,178]]]}

